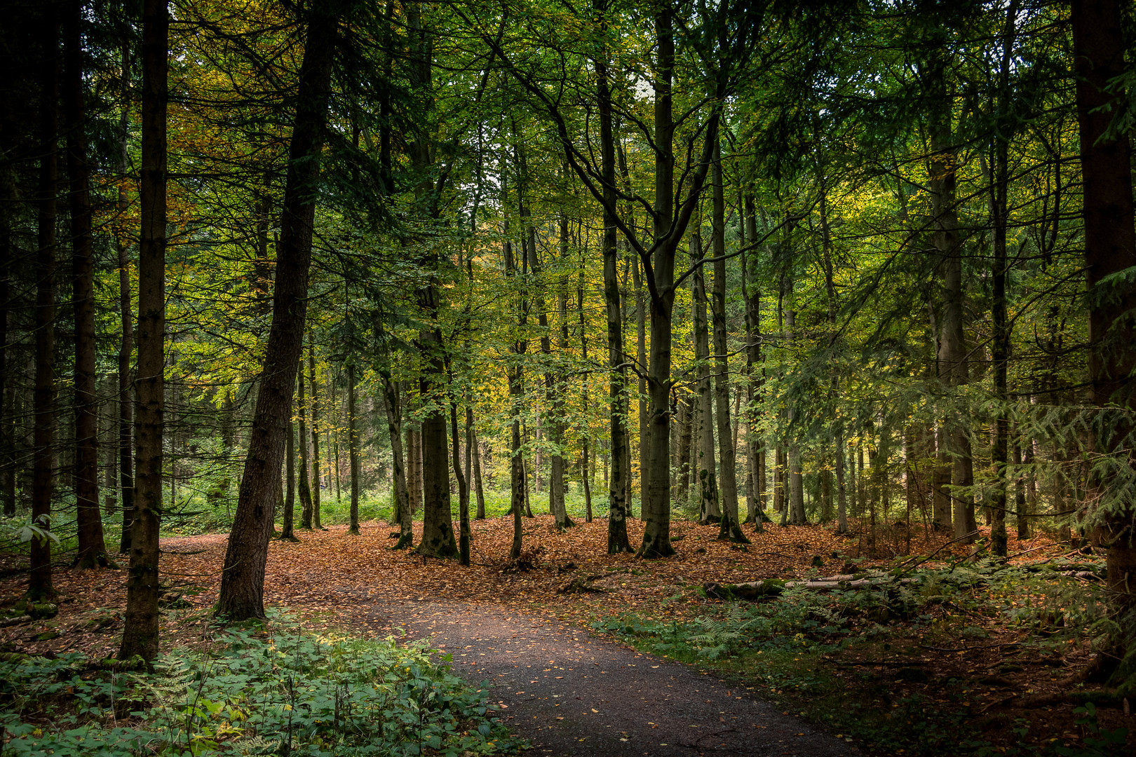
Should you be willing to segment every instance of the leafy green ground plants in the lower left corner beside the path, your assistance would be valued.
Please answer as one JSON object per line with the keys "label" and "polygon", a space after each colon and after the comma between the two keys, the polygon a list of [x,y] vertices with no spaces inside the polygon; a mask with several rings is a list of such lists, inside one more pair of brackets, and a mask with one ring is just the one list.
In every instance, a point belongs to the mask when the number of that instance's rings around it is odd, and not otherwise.
{"label": "leafy green ground plants in the lower left corner beside the path", "polygon": [[[449,661],[449,657],[445,658]],[[482,755],[516,746],[421,645],[274,623],[227,631],[152,673],[84,673],[81,655],[0,664],[5,752],[127,755]]]}

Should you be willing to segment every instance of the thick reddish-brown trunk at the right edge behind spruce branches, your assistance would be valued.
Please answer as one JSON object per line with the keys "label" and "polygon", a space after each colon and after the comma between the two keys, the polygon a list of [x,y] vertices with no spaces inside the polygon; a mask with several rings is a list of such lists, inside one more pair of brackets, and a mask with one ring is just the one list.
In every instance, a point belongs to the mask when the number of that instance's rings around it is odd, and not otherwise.
{"label": "thick reddish-brown trunk at the right edge behind spruce branches", "polygon": [[[1080,127],[1080,165],[1085,186],[1085,267],[1088,283],[1088,370],[1093,402],[1099,407],[1133,407],[1133,368],[1136,365],[1136,287],[1130,279],[1106,285],[1102,279],[1136,266],[1131,146],[1127,134],[1106,135],[1113,100],[1124,93],[1105,90],[1125,70],[1120,3],[1116,0],[1074,0],[1074,52],[1077,65],[1077,121]],[[1128,93],[1129,95],[1131,93]],[[1106,422],[1101,413],[1094,445],[1102,453],[1120,453],[1133,432],[1129,417]],[[1130,449],[1130,446],[1129,446]],[[1092,481],[1103,490],[1106,481]],[[1136,528],[1134,505],[1110,503],[1103,536],[1109,544],[1108,583],[1121,609],[1136,607]],[[1130,651],[1129,651],[1130,654]]]}

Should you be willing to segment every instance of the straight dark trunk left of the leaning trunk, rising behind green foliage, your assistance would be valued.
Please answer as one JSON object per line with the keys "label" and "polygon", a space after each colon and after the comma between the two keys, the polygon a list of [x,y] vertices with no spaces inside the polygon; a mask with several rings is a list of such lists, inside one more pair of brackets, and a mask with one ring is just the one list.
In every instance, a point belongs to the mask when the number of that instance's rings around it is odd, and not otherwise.
{"label": "straight dark trunk left of the leaning trunk, rising behind green foliage", "polygon": [[[166,337],[166,107],[169,16],[166,0],[142,3],[142,165],[139,328],[135,371],[134,512],[119,659],[158,656],[158,519],[161,514]],[[277,466],[278,470],[278,466]]]}

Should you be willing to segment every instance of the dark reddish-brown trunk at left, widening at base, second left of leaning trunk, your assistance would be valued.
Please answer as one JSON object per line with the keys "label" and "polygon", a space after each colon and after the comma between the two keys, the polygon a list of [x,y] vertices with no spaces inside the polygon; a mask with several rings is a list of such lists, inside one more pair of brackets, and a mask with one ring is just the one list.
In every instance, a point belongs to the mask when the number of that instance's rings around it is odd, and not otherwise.
{"label": "dark reddish-brown trunk at left, widening at base, second left of leaning trunk", "polygon": [[64,5],[62,102],[70,184],[72,309],[75,316],[75,507],[77,567],[107,565],[99,510],[99,401],[95,392],[94,239],[91,233],[90,169],[86,162],[86,109],[83,101],[83,5]]}

